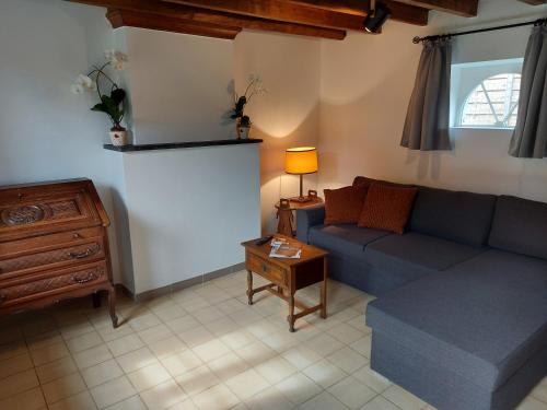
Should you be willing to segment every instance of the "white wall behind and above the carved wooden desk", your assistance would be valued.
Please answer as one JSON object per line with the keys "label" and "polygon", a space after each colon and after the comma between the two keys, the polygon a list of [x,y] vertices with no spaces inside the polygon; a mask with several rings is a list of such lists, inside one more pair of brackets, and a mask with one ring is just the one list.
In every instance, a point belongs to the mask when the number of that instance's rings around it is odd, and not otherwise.
{"label": "white wall behind and above the carved wooden desk", "polygon": [[[69,86],[101,61],[112,30],[103,10],[62,1],[0,4],[0,185],[89,177],[113,214],[115,164],[102,144],[106,117]],[[113,219],[112,253],[118,278]]]}

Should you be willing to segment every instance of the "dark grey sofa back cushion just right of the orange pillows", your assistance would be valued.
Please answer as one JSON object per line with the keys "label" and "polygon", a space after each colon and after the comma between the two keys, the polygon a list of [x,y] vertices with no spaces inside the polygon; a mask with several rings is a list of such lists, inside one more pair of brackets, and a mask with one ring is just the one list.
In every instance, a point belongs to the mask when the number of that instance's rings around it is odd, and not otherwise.
{"label": "dark grey sofa back cushion just right of the orange pillows", "polygon": [[419,187],[409,230],[472,246],[487,243],[496,196]]}

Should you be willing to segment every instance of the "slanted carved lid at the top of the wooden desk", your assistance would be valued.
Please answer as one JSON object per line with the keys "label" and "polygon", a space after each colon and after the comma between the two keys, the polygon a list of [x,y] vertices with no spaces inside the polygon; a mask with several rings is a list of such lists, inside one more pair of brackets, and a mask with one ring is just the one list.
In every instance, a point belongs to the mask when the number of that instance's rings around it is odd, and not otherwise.
{"label": "slanted carved lid at the top of the wooden desk", "polygon": [[101,224],[86,183],[0,190],[0,242]]}

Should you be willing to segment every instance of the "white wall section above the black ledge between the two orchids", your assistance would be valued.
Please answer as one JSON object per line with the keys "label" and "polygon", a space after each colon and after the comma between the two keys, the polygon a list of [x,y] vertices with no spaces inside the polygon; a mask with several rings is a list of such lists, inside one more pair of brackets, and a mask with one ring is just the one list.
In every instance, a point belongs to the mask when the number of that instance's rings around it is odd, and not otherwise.
{"label": "white wall section above the black ledge between the two orchids", "polygon": [[235,137],[225,120],[233,42],[133,27],[118,28],[116,35],[130,56],[125,75],[135,143]]}

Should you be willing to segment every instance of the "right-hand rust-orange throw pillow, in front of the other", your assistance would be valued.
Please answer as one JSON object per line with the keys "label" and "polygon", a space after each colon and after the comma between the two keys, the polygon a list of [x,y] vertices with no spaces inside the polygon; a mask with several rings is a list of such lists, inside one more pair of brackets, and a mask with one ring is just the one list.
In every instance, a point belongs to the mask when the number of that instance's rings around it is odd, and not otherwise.
{"label": "right-hand rust-orange throw pillow, in front of the other", "polygon": [[372,184],[358,226],[405,233],[418,188]]}

